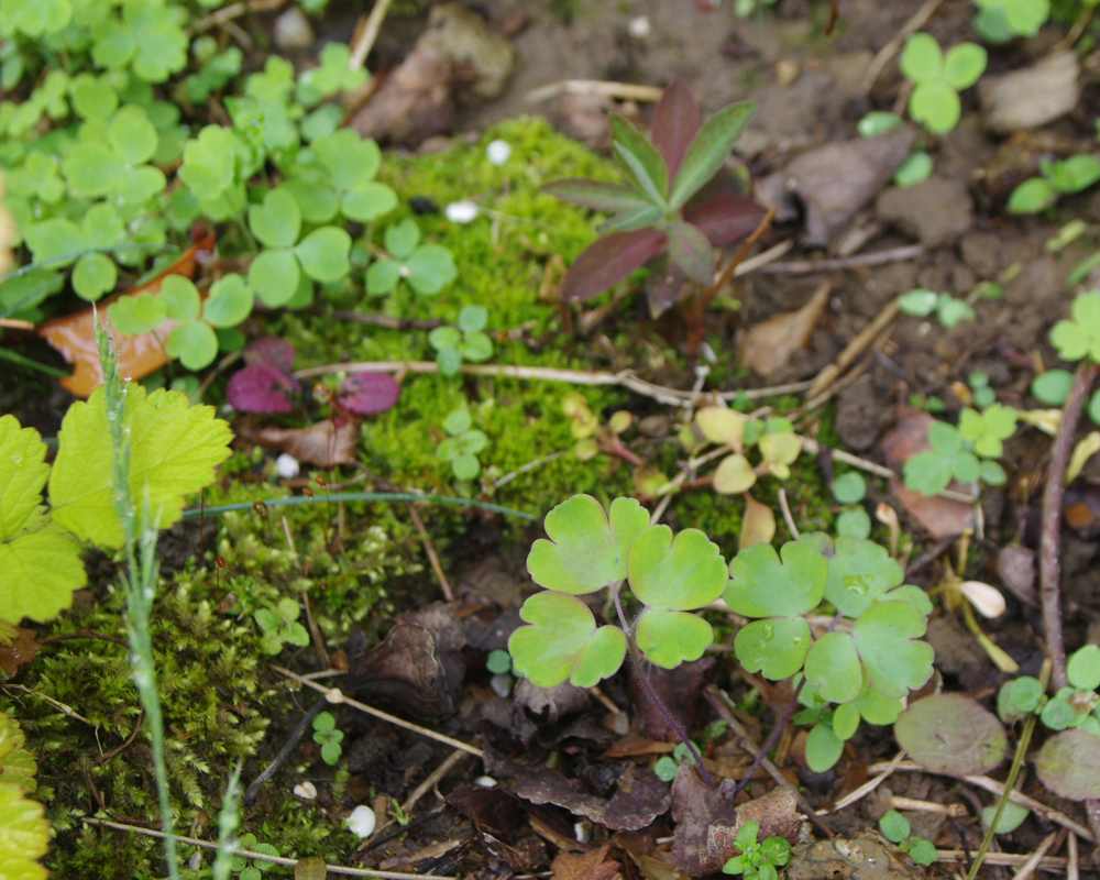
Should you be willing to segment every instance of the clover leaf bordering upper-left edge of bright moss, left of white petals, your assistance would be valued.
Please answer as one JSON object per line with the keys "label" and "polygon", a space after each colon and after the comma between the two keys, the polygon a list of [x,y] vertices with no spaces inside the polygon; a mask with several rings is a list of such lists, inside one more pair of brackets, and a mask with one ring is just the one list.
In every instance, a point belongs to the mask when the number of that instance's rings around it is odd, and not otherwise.
{"label": "clover leaf bordering upper-left edge of bright moss, left of white petals", "polygon": [[351,129],[316,139],[297,162],[284,187],[309,223],[328,223],[337,215],[366,223],[397,207],[394,190],[374,179],[382,151]]}

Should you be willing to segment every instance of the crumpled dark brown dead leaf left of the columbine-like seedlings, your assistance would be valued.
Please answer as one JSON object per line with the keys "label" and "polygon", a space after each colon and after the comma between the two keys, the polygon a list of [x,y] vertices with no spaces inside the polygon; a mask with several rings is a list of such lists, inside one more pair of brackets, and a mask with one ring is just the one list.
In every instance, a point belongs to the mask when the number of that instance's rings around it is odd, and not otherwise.
{"label": "crumpled dark brown dead leaf left of the columbine-like seedlings", "polygon": [[437,602],[399,614],[386,638],[351,663],[345,690],[419,718],[454,712],[462,695],[466,637],[454,608]]}

